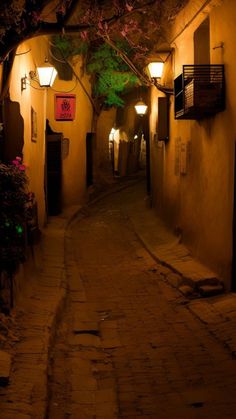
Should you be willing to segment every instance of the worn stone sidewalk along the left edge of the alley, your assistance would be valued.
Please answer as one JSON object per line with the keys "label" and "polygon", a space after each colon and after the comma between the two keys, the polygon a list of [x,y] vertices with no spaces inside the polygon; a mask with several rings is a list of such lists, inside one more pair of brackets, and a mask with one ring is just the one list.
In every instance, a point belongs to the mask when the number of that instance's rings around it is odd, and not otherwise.
{"label": "worn stone sidewalk along the left edge of the alley", "polygon": [[52,230],[48,226],[42,269],[28,278],[28,287],[15,309],[19,341],[12,351],[9,385],[0,387],[1,419],[45,416],[50,341],[65,295],[64,227],[60,224]]}

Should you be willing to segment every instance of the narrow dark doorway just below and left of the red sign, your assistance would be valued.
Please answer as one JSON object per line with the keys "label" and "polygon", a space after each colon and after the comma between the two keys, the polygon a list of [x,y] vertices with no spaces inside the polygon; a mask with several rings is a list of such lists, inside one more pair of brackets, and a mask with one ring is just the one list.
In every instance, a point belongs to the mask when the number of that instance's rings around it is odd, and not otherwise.
{"label": "narrow dark doorway just below and left of the red sign", "polygon": [[61,212],[62,134],[46,134],[46,203],[48,215]]}

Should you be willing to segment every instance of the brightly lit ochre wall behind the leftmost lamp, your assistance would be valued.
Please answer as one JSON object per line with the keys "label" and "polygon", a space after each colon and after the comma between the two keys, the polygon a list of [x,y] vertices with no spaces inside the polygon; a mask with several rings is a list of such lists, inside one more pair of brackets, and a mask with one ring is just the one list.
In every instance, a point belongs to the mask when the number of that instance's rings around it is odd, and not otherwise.
{"label": "brightly lit ochre wall behind the leftmost lamp", "polygon": [[[39,48],[40,45],[40,48]],[[44,62],[47,55],[46,38],[35,38],[21,44],[16,52],[11,81],[10,99],[19,102],[20,113],[24,120],[23,158],[27,165],[29,190],[36,195],[39,225],[45,223],[44,163],[45,163],[45,119],[46,90],[36,90],[29,85],[21,91],[21,78]],[[35,87],[37,85],[35,84]],[[37,141],[31,141],[31,106],[37,113]]]}

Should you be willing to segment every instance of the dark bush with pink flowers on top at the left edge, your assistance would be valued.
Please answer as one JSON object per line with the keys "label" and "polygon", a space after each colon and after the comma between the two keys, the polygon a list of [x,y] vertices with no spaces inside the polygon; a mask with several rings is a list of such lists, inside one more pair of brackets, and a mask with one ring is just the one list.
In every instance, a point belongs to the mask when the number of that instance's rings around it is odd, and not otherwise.
{"label": "dark bush with pink flowers on top at the left edge", "polygon": [[9,281],[13,305],[13,275],[25,260],[25,228],[28,179],[21,157],[0,163],[0,273]]}

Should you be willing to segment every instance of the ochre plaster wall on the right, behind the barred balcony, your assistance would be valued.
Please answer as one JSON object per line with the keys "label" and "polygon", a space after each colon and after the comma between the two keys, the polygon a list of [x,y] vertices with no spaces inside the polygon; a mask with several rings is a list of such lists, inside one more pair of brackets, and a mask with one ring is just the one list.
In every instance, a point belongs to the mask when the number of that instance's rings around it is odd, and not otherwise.
{"label": "ochre plaster wall on the right, behind the barred balcony", "polygon": [[[202,1],[190,2],[187,11],[181,14],[185,21],[181,21],[180,16],[172,36],[183,29],[201,4]],[[183,64],[194,63],[193,33],[206,18],[206,12],[210,17],[211,63],[225,65],[226,110],[201,121],[175,120],[171,98],[170,140],[160,148],[151,139],[152,193],[154,204],[168,225],[182,230],[183,241],[193,254],[215,270],[229,288],[236,123],[234,0],[213,1],[175,39],[172,70],[176,77]],[[224,48],[215,48],[221,42]],[[152,134],[157,117],[157,96],[158,91],[152,88]],[[187,171],[180,174],[177,146],[185,143],[188,144]]]}

